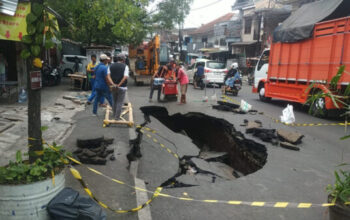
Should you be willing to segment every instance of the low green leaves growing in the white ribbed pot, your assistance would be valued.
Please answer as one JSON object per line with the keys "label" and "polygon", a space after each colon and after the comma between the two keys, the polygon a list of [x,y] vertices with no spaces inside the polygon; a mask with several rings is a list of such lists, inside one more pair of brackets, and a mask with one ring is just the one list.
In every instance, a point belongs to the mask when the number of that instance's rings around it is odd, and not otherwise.
{"label": "low green leaves growing in the white ribbed pot", "polygon": [[[17,151],[16,162],[10,161],[5,167],[0,167],[0,184],[25,184],[51,177],[51,172],[60,172],[67,162],[66,153],[61,146],[53,145],[57,150],[44,148],[44,154],[34,163],[22,159],[22,153]],[[31,152],[33,153],[33,152]]]}

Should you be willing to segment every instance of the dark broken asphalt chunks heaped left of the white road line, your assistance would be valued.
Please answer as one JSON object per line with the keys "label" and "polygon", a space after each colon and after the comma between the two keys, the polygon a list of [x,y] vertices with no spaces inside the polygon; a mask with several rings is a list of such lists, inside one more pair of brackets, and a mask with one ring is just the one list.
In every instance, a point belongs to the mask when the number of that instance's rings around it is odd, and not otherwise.
{"label": "dark broken asphalt chunks heaped left of the white road line", "polygon": [[[85,164],[105,165],[107,158],[115,160],[114,149],[109,149],[108,146],[113,143],[114,139],[104,137],[94,139],[78,139],[78,149],[73,152],[74,156]],[[111,156],[109,156],[112,154]]]}

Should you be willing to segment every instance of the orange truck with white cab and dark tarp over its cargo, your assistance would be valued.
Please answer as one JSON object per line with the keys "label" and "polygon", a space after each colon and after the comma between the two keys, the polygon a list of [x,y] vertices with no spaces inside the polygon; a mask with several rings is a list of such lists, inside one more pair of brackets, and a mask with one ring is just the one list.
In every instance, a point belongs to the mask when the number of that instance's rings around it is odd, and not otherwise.
{"label": "orange truck with white cab and dark tarp over its cargo", "polygon": [[[338,2],[338,7],[341,7],[342,1]],[[317,10],[317,3],[301,8],[304,11],[297,11],[294,18],[299,14],[303,17],[301,13],[311,10],[310,7]],[[346,10],[349,11],[349,8]],[[338,9],[337,16],[341,14]],[[317,17],[317,13],[314,16]],[[287,19],[285,25],[289,21]],[[350,71],[350,17],[318,22],[308,27],[289,27],[284,32],[280,29],[276,29],[271,48],[264,50],[255,68],[253,92],[257,92],[262,101],[277,98],[304,104],[311,94],[330,92],[330,82],[340,66],[345,65],[345,70]],[[308,31],[311,36],[307,36]],[[350,75],[343,74],[338,88],[345,89],[349,82]],[[309,89],[310,85],[312,89]],[[315,114],[316,111],[323,112],[318,116],[325,116],[328,110],[336,109],[329,97],[319,97],[313,105]]]}

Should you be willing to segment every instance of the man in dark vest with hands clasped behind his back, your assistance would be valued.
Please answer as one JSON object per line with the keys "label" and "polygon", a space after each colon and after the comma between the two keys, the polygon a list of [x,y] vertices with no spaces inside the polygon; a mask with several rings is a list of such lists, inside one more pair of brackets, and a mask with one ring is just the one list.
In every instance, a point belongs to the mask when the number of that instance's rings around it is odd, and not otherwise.
{"label": "man in dark vest with hands clasped behind his back", "polygon": [[121,120],[120,115],[124,105],[127,83],[129,78],[129,67],[125,64],[125,55],[120,53],[115,59],[115,63],[109,68],[110,77],[116,88],[113,88],[113,117],[115,120]]}

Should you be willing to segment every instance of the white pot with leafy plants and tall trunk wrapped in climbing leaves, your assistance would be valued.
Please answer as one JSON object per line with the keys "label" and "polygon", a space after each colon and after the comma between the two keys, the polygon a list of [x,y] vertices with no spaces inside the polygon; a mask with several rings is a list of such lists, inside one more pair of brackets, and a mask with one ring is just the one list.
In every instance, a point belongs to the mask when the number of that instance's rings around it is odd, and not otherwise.
{"label": "white pot with leafy plants and tall trunk wrapped in climbing leaves", "polygon": [[[31,0],[20,3],[30,8],[26,15],[26,33],[21,38],[21,57],[27,64],[28,90],[28,160],[22,153],[16,160],[0,167],[0,219],[49,219],[48,202],[64,187],[62,147],[43,146],[41,129],[41,55],[58,42],[60,33],[57,19],[50,14],[47,2]],[[38,76],[39,75],[39,76]],[[39,81],[40,82],[40,81]]]}

